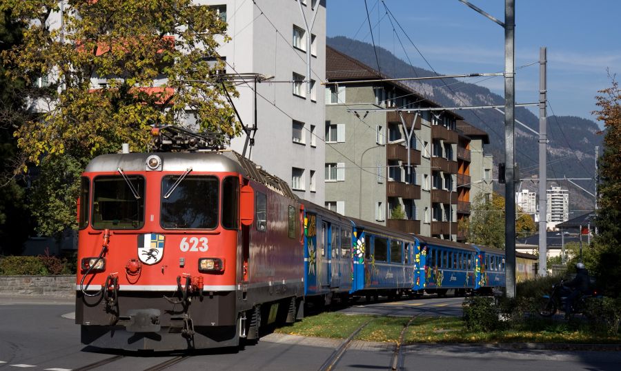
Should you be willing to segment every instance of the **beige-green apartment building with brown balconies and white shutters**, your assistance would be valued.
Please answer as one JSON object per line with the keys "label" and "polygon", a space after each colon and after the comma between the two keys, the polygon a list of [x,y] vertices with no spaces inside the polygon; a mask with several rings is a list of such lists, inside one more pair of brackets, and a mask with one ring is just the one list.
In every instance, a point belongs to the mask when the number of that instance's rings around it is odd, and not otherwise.
{"label": "beige-green apartment building with brown balconies and white shutters", "polygon": [[[464,144],[463,152],[457,150],[457,122],[462,117],[441,110],[418,115],[397,112],[397,108],[440,107],[403,83],[348,82],[386,78],[326,48],[325,205],[402,232],[455,240],[459,194],[473,183],[467,178],[472,170],[466,152],[470,145]],[[331,84],[335,81],[339,83]],[[477,132],[481,133],[486,135]],[[482,139],[475,136],[475,141]],[[482,151],[482,143],[479,146]],[[480,163],[477,168],[483,167],[482,153]],[[491,171],[491,161],[487,169]],[[462,187],[457,186],[460,171]],[[483,178],[475,179],[479,183]],[[467,192],[461,197],[468,199]]]}

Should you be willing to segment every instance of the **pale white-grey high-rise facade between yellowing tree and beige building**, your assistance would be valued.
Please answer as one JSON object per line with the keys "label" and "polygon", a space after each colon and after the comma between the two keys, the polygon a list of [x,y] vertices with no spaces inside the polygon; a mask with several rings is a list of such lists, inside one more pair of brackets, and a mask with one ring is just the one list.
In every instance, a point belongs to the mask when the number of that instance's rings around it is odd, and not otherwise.
{"label": "pale white-grey high-rise facade between yellowing tree and beige building", "polygon": [[[228,43],[217,50],[226,59],[227,74],[258,73],[272,77],[257,83],[255,146],[246,157],[287,181],[304,199],[324,205],[324,86],[326,79],[325,1],[302,1],[308,26],[317,16],[311,35],[311,80],[306,82],[306,24],[295,0],[197,0],[226,12]],[[313,6],[311,6],[311,4]],[[295,82],[299,81],[299,82]],[[237,85],[235,107],[245,126],[255,121],[253,79]],[[246,135],[230,148],[242,153]]]}

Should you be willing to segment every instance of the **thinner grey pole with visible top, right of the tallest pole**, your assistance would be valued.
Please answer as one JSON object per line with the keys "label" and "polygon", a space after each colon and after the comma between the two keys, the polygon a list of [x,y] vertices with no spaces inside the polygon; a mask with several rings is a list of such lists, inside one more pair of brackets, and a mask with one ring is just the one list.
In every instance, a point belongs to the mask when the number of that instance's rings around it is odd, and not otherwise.
{"label": "thinner grey pole with visible top, right of the tallest pole", "polygon": [[[547,257],[547,195],[546,195],[546,65],[547,50],[539,50],[539,275],[545,277],[548,272]],[[562,233],[562,231],[561,231]]]}

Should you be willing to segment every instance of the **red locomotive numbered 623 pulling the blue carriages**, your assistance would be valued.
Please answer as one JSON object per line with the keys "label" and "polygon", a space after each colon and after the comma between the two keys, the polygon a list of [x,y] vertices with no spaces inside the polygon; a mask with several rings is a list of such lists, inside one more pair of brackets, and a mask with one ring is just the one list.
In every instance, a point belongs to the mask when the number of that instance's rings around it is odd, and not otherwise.
{"label": "red locomotive numbered 623 pulling the blue carriages", "polygon": [[[301,204],[281,179],[208,137],[156,129],[157,150],[82,174],[76,323],[101,348],[174,350],[257,339],[304,296]],[[302,208],[303,209],[303,208]]]}

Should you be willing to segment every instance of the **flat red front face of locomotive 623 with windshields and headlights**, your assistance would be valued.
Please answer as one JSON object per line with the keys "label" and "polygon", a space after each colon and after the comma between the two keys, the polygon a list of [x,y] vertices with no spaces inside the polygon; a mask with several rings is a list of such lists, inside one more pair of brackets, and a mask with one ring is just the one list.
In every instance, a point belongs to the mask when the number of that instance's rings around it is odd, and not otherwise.
{"label": "flat red front face of locomotive 623 with windshields and headlights", "polygon": [[237,344],[236,282],[248,259],[239,231],[253,223],[254,205],[239,170],[215,153],[112,154],[90,163],[79,199],[83,343]]}

